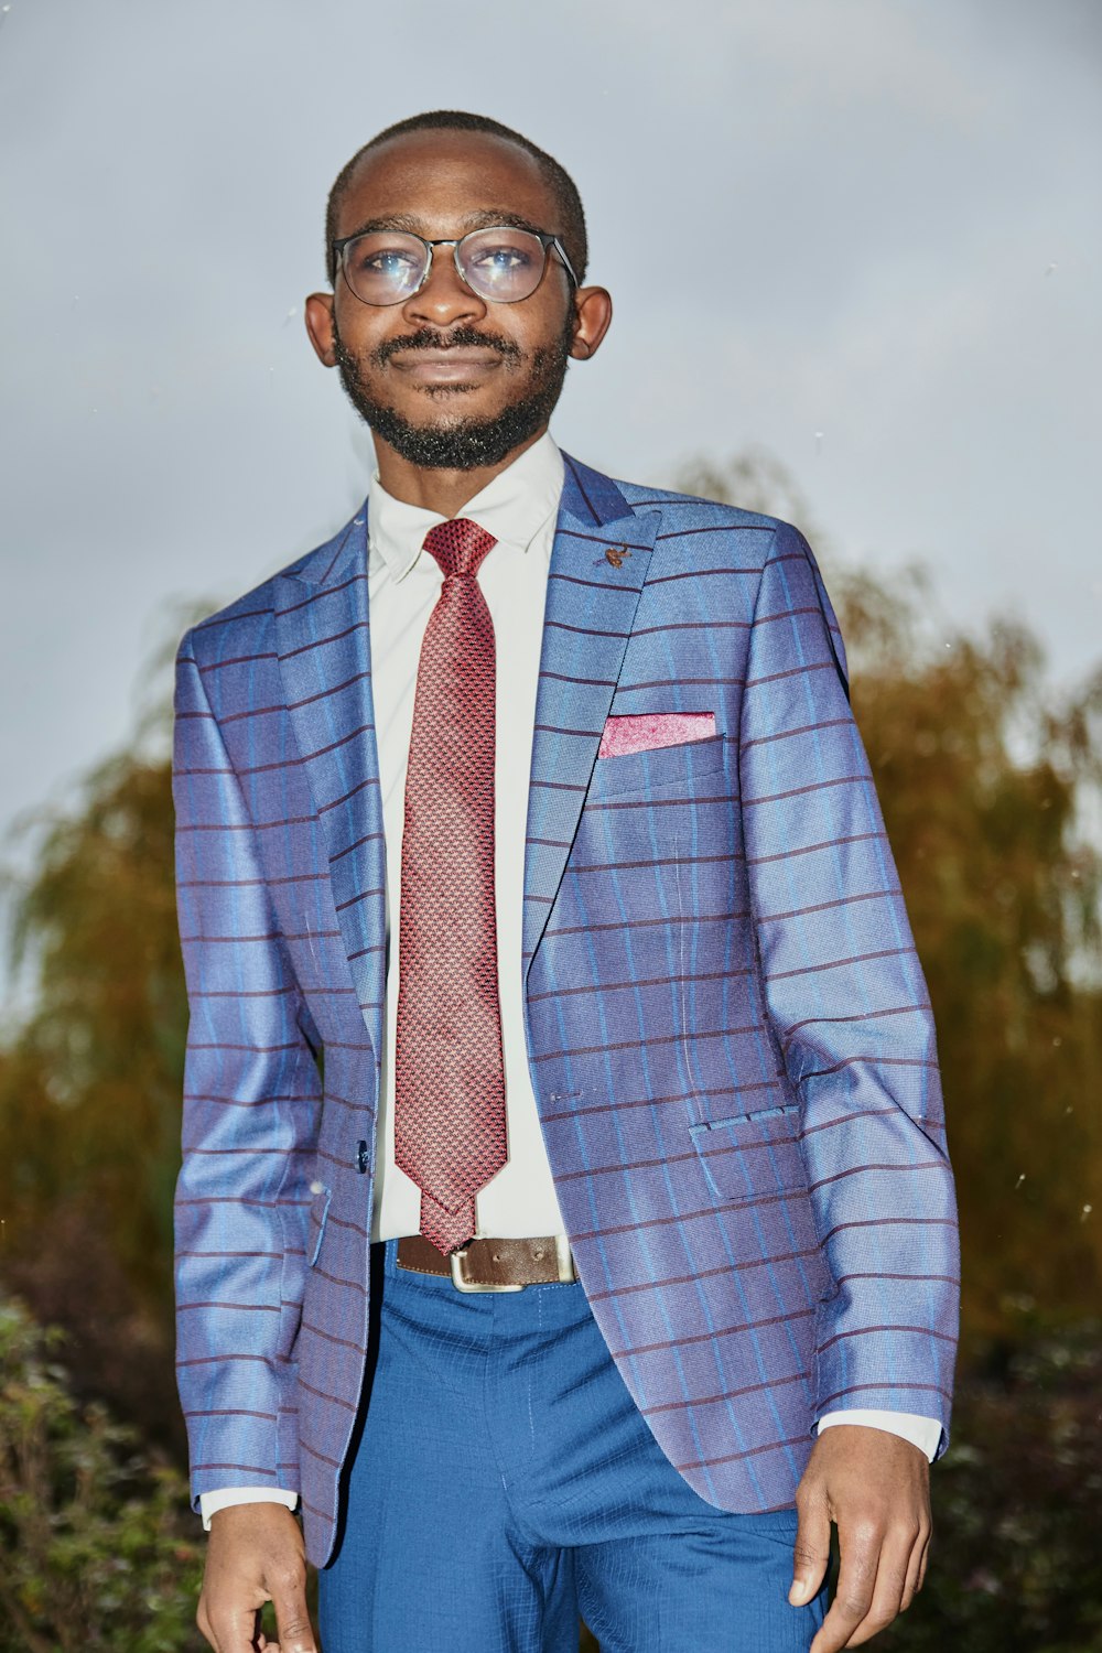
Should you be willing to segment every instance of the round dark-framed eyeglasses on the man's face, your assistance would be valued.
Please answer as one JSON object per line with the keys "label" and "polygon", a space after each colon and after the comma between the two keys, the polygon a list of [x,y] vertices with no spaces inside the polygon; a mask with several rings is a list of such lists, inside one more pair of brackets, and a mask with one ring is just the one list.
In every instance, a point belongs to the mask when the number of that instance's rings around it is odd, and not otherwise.
{"label": "round dark-framed eyeglasses on the man's face", "polygon": [[435,246],[449,246],[459,281],[492,304],[519,304],[530,298],[544,279],[549,248],[558,253],[573,286],[578,284],[557,235],[515,230],[507,223],[443,241],[426,241],[405,230],[368,230],[334,241],[332,251],[360,302],[401,304],[428,281]]}

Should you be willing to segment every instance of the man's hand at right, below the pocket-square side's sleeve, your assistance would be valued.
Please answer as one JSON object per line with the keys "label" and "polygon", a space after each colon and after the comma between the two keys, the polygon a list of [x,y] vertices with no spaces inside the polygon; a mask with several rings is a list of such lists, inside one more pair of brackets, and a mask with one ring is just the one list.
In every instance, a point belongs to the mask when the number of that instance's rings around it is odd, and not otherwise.
{"label": "man's hand at right, below the pocket-square side's sleeve", "polygon": [[831,1521],[841,1569],[811,1653],[856,1648],[905,1613],[925,1579],[930,1547],[930,1466],[900,1435],[864,1423],[823,1430],[796,1489],[795,1575],[788,1600],[803,1607],[823,1584]]}

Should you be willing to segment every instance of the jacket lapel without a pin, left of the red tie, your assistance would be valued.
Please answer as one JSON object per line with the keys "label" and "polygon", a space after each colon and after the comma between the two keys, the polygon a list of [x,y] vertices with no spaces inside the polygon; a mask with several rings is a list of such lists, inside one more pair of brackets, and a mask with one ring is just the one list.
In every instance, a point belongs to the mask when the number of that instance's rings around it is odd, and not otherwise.
{"label": "jacket lapel without a pin, left of the red tie", "polygon": [[276,580],[276,650],[296,744],[325,836],[337,922],[378,1050],[387,876],[372,704],[367,507],[292,574]]}

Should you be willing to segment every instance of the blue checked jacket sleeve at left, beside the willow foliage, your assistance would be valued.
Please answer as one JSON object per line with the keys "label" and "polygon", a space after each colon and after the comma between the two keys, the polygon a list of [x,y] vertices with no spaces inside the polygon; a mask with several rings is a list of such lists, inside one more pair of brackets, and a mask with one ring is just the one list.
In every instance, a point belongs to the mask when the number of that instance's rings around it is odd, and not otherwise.
{"label": "blue checked jacket sleeve at left, beside the willow foliage", "polygon": [[193,633],[177,661],[172,785],[190,1003],[177,1354],[198,1508],[221,1486],[299,1486],[292,1362],[321,1081]]}

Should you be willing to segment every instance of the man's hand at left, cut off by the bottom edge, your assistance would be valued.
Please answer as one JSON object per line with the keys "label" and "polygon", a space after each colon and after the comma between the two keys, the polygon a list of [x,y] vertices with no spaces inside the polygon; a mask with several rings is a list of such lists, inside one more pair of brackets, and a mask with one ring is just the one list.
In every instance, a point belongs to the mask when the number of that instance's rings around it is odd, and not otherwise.
{"label": "man's hand at left, cut off by the bottom edge", "polygon": [[[276,1608],[278,1641],[261,1633],[264,1602]],[[317,1653],[302,1532],[284,1504],[231,1504],[211,1516],[195,1622],[215,1653]]]}

